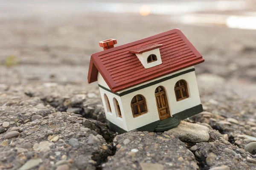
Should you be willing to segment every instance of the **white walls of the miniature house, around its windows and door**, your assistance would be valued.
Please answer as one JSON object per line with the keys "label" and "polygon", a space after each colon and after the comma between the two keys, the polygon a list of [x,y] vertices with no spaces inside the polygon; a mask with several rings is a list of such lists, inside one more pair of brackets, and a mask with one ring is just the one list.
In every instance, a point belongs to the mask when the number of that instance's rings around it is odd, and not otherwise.
{"label": "white walls of the miniature house, around its windows and door", "polygon": [[[189,67],[189,68],[177,71],[173,74],[177,74],[178,72],[189,70],[191,68],[194,68],[194,67]],[[169,74],[164,77],[169,77],[173,74]],[[164,77],[160,77],[158,79],[163,79]],[[154,82],[158,79],[154,79],[149,82]],[[176,97],[175,97],[174,86],[175,86],[175,83],[180,79],[184,79],[187,82],[187,85],[189,88],[189,98],[177,102]],[[100,85],[108,88],[108,86],[106,86],[107,84],[105,83],[104,79],[101,76],[98,76],[98,81],[99,81]],[[137,85],[132,88],[128,88],[124,91],[139,87],[144,84],[148,84],[149,82]],[[183,74],[181,76],[178,76],[178,77],[175,77],[172,79],[168,79],[164,82],[160,82],[155,85],[151,85],[147,88],[143,88],[141,90],[132,92],[130,94],[126,94],[121,97],[116,96],[115,94],[112,94],[112,93],[100,88],[102,99],[104,100],[104,93],[106,93],[106,95],[108,96],[112,112],[115,111],[115,109],[113,108],[113,97],[116,97],[116,99],[118,100],[120,109],[122,112],[122,121],[120,121],[119,118],[116,118],[116,113],[113,113],[112,116],[110,116],[109,113],[106,113],[107,119],[127,131],[136,129],[143,125],[147,125],[148,123],[155,122],[155,121],[159,120],[154,91],[160,85],[163,86],[166,90],[171,115],[174,115],[175,113],[178,113],[180,111],[183,111],[188,108],[192,108],[196,105],[201,104],[200,96],[199,96],[199,92],[198,92],[198,85],[197,85],[196,77],[195,77],[195,71],[192,71],[192,72]],[[124,92],[124,91],[120,91],[119,93]],[[134,118],[132,111],[131,111],[131,99],[134,96],[136,96],[137,94],[141,94],[145,97],[146,102],[147,102],[147,107],[148,107],[148,113],[145,113],[141,116]],[[105,101],[103,101],[103,105],[104,105],[105,111],[107,111]],[[125,126],[127,126],[127,128],[125,128]]]}

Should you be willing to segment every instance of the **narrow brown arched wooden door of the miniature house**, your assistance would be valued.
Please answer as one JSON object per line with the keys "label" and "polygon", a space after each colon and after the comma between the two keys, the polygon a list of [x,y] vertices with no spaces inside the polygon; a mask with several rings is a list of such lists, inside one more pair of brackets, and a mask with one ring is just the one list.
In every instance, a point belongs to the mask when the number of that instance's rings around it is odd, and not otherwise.
{"label": "narrow brown arched wooden door of the miniature house", "polygon": [[171,113],[169,110],[169,104],[166,96],[166,91],[164,90],[163,86],[159,86],[156,88],[155,96],[160,120],[170,117]]}

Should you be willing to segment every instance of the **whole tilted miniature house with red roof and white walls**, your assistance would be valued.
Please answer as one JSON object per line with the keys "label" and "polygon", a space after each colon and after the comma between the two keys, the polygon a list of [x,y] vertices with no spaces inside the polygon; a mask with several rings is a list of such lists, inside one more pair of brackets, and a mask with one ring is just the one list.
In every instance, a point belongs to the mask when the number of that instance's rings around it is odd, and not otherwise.
{"label": "whole tilted miniature house with red roof and white walls", "polygon": [[203,111],[194,65],[204,58],[179,29],[115,44],[99,42],[104,51],[91,55],[88,72],[111,130],[161,132]]}

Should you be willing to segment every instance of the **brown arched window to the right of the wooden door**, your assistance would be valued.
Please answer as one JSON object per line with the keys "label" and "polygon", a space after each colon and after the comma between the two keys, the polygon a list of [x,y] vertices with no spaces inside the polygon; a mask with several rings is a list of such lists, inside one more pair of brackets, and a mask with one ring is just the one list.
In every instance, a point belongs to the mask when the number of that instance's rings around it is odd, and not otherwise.
{"label": "brown arched window to the right of the wooden door", "polygon": [[185,80],[181,79],[176,82],[175,87],[176,100],[180,101],[189,97],[189,90]]}

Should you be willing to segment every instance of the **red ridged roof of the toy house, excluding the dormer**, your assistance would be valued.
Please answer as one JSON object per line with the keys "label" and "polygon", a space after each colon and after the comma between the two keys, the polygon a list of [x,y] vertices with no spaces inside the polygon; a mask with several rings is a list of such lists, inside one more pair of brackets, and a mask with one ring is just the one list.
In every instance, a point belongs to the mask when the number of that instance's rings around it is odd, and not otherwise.
{"label": "red ridged roof of the toy house, excluding the dormer", "polygon": [[[149,44],[163,45],[159,48],[162,64],[145,69],[136,54],[129,51],[140,51]],[[115,93],[201,62],[204,59],[191,42],[179,29],[173,29],[92,54],[88,82],[97,81],[99,71]]]}

